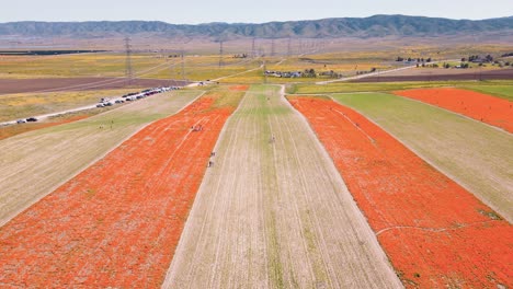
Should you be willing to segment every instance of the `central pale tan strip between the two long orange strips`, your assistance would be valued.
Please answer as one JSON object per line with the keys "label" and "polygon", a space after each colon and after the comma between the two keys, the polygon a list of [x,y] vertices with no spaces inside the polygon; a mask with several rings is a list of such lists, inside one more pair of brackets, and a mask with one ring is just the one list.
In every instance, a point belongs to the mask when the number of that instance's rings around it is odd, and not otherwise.
{"label": "central pale tan strip between the two long orange strips", "polygon": [[277,86],[251,88],[215,150],[164,288],[401,287]]}

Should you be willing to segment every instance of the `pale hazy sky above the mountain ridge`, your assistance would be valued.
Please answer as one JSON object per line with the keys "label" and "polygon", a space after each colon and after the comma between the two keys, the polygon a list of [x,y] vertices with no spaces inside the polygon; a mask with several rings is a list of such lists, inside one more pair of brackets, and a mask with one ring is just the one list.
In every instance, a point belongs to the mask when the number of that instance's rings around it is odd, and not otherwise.
{"label": "pale hazy sky above the mountain ridge", "polygon": [[0,22],[158,20],[173,24],[262,23],[375,14],[472,20],[512,16],[513,0],[5,0],[0,9]]}

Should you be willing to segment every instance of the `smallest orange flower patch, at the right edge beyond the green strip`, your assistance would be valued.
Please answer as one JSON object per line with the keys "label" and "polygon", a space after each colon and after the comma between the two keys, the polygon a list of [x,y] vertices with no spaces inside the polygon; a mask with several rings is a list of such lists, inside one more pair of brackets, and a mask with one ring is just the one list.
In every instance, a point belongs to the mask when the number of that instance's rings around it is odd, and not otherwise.
{"label": "smallest orange flower patch, at the right edge beyond the green strip", "polygon": [[513,132],[513,102],[458,89],[396,91],[397,95],[425,102]]}

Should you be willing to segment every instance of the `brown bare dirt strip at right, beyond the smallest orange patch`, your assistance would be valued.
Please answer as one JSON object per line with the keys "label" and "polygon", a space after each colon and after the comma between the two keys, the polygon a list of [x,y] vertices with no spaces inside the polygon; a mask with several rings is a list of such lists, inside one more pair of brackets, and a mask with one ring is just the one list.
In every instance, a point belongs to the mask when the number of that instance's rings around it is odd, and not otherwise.
{"label": "brown bare dirt strip at right, beyond the smallest orange patch", "polygon": [[446,81],[446,80],[511,80],[513,69],[435,69],[425,70],[409,69],[397,74],[390,73],[353,80],[352,82],[401,82],[401,81]]}

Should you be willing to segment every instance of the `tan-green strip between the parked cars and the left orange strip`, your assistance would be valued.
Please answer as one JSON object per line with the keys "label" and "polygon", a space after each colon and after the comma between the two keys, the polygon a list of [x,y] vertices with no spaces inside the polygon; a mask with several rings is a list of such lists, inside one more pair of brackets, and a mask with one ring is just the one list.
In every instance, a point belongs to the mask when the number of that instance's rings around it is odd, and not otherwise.
{"label": "tan-green strip between the parked cars and the left orange strip", "polygon": [[198,94],[197,91],[158,94],[88,119],[1,140],[0,224],[145,125],[176,113]]}

